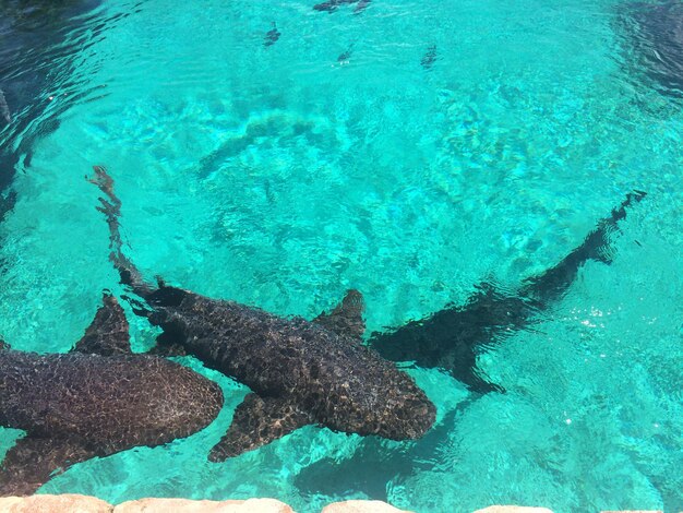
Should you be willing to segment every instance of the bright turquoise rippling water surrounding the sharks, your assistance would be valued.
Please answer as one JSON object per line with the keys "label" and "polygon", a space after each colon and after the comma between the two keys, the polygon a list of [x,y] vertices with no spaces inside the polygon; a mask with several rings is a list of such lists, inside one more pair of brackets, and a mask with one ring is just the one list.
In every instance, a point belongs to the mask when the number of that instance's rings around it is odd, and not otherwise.
{"label": "bright turquoise rippling water surrounding the sharks", "polygon": [[[298,511],[348,498],[420,512],[682,509],[683,103],[637,68],[628,5],[313,3],[101,8],[130,15],[71,58],[82,96],[74,83],[45,91],[43,116],[60,123],[20,159],[0,224],[8,342],[65,351],[100,290],[122,291],[83,178],[95,164],[116,180],[146,275],[284,315],[312,318],[355,287],[370,332],[462,303],[484,279],[515,287],[645,190],[613,264],[589,262],[541,323],[480,356],[506,394],[409,369],[439,409],[417,442],[307,427],[208,463],[247,389],[188,358],[224,387],[214,423],[76,465],[40,492],[265,496]],[[273,21],[281,36],[265,47]],[[130,319],[145,350],[156,332]]]}

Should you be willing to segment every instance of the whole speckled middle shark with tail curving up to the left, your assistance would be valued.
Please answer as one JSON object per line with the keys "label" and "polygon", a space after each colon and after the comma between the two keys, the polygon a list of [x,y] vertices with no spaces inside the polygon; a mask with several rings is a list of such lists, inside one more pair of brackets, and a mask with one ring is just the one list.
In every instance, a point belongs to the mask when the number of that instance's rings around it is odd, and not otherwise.
{"label": "whole speckled middle shark with tail curving up to the left", "polygon": [[152,310],[136,311],[160,326],[159,345],[181,347],[207,367],[252,390],[212,450],[212,461],[239,455],[305,425],[405,440],[424,434],[434,405],[412,379],[361,343],[363,302],[350,291],[313,322],[284,319],[233,301],[160,283],[147,285],[121,253],[120,201],[106,170],[92,180],[105,193],[111,260],[122,283]]}

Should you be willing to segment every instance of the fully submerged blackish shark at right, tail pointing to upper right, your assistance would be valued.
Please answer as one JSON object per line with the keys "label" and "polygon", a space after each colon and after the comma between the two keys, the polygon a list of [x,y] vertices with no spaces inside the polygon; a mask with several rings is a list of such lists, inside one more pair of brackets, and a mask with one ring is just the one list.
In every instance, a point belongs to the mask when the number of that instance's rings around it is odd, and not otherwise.
{"label": "fully submerged blackish shark at right, tail pointing to upper right", "polygon": [[626,217],[626,208],[644,196],[640,191],[628,193],[579,247],[554,267],[527,279],[514,294],[483,283],[463,306],[447,306],[394,332],[373,333],[371,346],[393,361],[414,361],[419,367],[444,369],[471,391],[502,391],[478,371],[477,355],[537,321],[538,314],[568,289],[587,261],[609,264],[611,236],[619,229],[618,223]]}

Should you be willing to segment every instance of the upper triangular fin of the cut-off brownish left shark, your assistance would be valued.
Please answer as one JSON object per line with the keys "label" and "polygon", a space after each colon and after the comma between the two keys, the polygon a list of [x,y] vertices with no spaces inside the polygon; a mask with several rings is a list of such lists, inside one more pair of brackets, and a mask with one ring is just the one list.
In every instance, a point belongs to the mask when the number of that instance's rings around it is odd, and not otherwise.
{"label": "upper triangular fin of the cut-off brownish left shark", "polygon": [[88,355],[127,355],[131,353],[128,320],[119,301],[108,293],[103,295],[103,306],[85,330],[85,335],[73,347]]}

